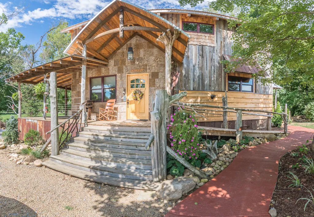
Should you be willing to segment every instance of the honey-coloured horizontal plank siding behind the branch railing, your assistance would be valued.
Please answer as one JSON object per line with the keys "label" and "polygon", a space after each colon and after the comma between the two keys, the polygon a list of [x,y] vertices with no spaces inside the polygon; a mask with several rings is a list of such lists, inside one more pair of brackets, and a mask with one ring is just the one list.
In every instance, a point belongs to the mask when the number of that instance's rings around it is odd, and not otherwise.
{"label": "honey-coloured horizontal plank siding behind the branch railing", "polygon": [[[179,92],[182,92],[180,90]],[[216,95],[214,99],[211,99],[211,95]],[[200,103],[212,106],[222,106],[222,96],[225,95],[224,91],[187,91],[187,96],[184,97],[181,102],[187,103]],[[247,108],[247,109],[259,109],[265,111],[272,111],[273,108],[273,95],[271,94],[256,94],[256,93],[245,93],[245,92],[227,92],[228,96],[228,107],[234,108]],[[215,108],[213,108],[215,109]],[[217,109],[222,110],[222,109]],[[222,112],[210,111],[211,113],[222,114]],[[258,112],[257,112],[258,113]],[[265,113],[264,113],[265,114]],[[220,122],[222,121],[222,116],[203,114],[207,117],[205,119],[199,116],[199,122]],[[267,119],[264,116],[255,115],[242,115],[242,120],[257,120],[257,119]],[[235,121],[236,113],[228,112],[228,121]]]}

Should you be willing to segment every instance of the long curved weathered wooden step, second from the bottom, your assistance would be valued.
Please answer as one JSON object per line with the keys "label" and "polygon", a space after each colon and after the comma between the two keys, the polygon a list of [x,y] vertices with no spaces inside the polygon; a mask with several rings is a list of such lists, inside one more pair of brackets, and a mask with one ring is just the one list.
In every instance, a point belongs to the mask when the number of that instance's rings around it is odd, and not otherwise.
{"label": "long curved weathered wooden step, second from the bottom", "polygon": [[50,156],[50,160],[65,166],[73,167],[79,170],[93,172],[95,174],[113,176],[118,178],[150,180],[152,181],[152,171],[143,169],[120,168],[115,166],[106,166],[92,162],[67,157],[64,155]]}

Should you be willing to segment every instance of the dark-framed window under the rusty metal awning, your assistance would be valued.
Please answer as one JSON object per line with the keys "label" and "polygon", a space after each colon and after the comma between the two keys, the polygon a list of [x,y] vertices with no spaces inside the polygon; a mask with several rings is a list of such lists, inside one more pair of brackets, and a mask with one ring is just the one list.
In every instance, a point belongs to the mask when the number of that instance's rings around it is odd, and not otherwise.
{"label": "dark-framed window under the rusty metal awning", "polygon": [[228,91],[253,93],[253,79],[228,76]]}

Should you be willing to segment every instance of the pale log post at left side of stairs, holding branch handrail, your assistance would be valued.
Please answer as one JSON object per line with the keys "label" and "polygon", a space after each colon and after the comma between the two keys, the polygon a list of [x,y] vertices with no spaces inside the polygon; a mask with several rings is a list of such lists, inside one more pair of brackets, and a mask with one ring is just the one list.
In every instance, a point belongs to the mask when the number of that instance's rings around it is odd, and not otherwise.
{"label": "pale log post at left side of stairs, holding branch handrail", "polygon": [[[57,100],[57,73],[51,72],[49,78],[50,84],[50,112],[51,122],[50,128],[58,126],[58,100]],[[51,155],[59,155],[59,130],[55,129],[51,132]]]}

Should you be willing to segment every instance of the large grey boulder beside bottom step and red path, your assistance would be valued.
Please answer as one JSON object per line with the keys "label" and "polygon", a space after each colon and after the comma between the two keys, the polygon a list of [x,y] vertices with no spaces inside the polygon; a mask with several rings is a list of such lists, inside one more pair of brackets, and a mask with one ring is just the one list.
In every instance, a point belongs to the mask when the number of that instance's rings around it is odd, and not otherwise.
{"label": "large grey boulder beside bottom step and red path", "polygon": [[156,197],[164,200],[178,200],[183,194],[192,191],[196,182],[189,177],[180,176],[166,180],[156,189]]}

